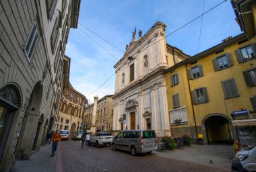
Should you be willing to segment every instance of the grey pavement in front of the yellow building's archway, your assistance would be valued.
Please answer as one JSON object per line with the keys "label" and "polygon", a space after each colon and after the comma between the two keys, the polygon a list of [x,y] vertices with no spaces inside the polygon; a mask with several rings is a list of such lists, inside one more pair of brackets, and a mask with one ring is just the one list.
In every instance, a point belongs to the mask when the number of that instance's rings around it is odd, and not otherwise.
{"label": "grey pavement in front of the yellow building's archway", "polygon": [[[181,149],[163,150],[162,152],[154,151],[162,157],[180,159],[203,165],[221,167],[231,170],[234,150],[231,145],[197,145],[185,146]],[[212,160],[212,163],[211,163]]]}

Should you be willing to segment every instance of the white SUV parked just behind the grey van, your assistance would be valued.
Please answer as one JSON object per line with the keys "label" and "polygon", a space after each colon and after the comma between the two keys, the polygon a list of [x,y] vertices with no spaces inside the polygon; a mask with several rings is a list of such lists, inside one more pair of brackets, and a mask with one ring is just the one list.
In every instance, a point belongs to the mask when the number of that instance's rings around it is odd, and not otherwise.
{"label": "white SUV parked just behind the grey van", "polygon": [[96,145],[96,147],[111,145],[113,136],[110,132],[96,132],[90,137],[90,144]]}

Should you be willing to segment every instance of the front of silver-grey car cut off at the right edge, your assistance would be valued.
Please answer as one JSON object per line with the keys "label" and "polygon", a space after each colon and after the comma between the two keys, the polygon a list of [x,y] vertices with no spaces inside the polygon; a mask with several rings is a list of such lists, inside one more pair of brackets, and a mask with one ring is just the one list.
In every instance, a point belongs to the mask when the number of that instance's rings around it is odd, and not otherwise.
{"label": "front of silver-grey car cut off at the right edge", "polygon": [[256,144],[240,150],[232,160],[232,172],[256,171]]}

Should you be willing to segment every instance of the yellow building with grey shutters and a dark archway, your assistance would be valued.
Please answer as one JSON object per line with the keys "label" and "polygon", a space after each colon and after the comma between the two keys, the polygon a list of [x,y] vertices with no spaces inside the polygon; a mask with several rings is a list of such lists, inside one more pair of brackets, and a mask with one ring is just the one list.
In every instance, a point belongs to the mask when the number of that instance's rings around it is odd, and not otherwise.
{"label": "yellow building with grey shutters and a dark archway", "polygon": [[[254,23],[247,24],[255,28]],[[238,131],[232,116],[248,110],[252,118],[256,111],[256,38],[255,30],[254,34],[243,30],[245,34],[226,38],[166,70],[173,137],[203,134],[205,144],[231,141]]]}

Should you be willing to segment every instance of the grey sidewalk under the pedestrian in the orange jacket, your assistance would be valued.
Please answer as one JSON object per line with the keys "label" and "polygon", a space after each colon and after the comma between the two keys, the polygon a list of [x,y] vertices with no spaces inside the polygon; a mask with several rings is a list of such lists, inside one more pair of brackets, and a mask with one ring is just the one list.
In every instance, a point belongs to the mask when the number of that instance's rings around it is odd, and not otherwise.
{"label": "grey sidewalk under the pedestrian in the orange jacket", "polygon": [[[60,142],[61,143],[61,142]],[[16,161],[16,172],[55,172],[59,170],[59,161],[61,161],[61,145],[58,145],[57,152],[54,157],[51,157],[51,144],[41,146],[28,161]],[[56,161],[57,160],[57,161]],[[55,169],[56,168],[56,169]],[[61,164],[62,171],[62,164]]]}

